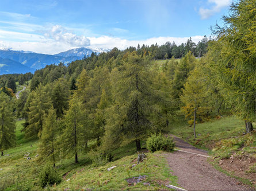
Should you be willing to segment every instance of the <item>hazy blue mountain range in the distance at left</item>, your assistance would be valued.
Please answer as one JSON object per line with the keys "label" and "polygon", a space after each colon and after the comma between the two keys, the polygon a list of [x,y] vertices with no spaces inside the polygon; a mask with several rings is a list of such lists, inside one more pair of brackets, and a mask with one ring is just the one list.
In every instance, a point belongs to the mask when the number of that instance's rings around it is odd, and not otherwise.
{"label": "hazy blue mountain range in the distance at left", "polygon": [[39,54],[23,50],[0,50],[0,75],[7,73],[35,72],[49,64],[71,63],[88,57],[92,52],[106,52],[107,49],[75,48],[58,54]]}

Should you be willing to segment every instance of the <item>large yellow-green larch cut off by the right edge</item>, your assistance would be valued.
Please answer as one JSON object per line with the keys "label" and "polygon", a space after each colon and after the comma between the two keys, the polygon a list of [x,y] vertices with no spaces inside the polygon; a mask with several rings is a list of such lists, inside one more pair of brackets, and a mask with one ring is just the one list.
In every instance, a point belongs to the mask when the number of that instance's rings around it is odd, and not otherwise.
{"label": "large yellow-green larch cut off by the right edge", "polygon": [[223,27],[216,26],[216,41],[209,54],[224,98],[245,121],[246,132],[253,131],[256,119],[256,3],[240,0],[232,3]]}

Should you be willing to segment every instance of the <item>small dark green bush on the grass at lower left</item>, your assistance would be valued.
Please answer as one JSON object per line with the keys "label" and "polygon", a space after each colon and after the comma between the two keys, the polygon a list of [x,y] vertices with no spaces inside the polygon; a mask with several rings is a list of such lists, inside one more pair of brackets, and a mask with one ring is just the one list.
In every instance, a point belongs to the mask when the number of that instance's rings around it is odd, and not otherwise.
{"label": "small dark green bush on the grass at lower left", "polygon": [[54,185],[55,183],[58,184],[60,181],[62,181],[61,177],[50,164],[45,165],[39,174],[39,182],[42,188],[47,185]]}

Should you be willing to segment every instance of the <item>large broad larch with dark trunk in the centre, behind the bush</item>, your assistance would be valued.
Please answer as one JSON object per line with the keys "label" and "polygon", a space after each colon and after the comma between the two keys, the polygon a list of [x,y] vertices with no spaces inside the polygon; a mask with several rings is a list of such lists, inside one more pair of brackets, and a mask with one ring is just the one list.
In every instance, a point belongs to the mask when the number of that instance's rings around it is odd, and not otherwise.
{"label": "large broad larch with dark trunk in the centre, behind the bush", "polygon": [[150,61],[132,52],[119,69],[113,69],[111,76],[114,103],[107,111],[104,143],[114,147],[135,142],[140,150],[140,139],[151,132],[149,117],[156,100],[151,88]]}

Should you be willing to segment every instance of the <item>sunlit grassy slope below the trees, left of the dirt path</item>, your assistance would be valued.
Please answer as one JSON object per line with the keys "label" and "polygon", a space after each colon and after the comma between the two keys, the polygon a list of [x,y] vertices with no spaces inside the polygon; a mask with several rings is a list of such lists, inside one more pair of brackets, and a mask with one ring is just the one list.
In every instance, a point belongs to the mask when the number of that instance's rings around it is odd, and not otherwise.
{"label": "sunlit grassy slope below the trees, left of the dirt path", "polygon": [[[24,120],[17,121],[17,147],[6,150],[5,154],[10,156],[0,157],[0,190],[40,190],[38,185],[38,176],[42,165],[35,157],[37,154],[37,140],[26,140],[24,132],[21,132]],[[27,160],[26,154],[32,159]],[[74,157],[70,159],[62,159],[56,166],[59,174],[64,180],[56,185],[57,190],[70,189],[129,189],[129,190],[159,190],[166,189],[164,183],[168,182],[177,185],[175,176],[171,176],[169,167],[166,165],[166,159],[161,157],[159,153],[148,153],[147,160],[139,165],[131,168],[136,163],[135,145],[121,147],[113,153],[114,158],[120,158],[114,162],[94,167],[85,154],[79,154],[79,164],[74,164]],[[125,156],[125,157],[124,157]],[[116,168],[107,171],[111,166]],[[142,182],[148,182],[150,185],[139,183],[129,186],[125,181],[127,178],[137,177],[139,175],[147,175]],[[69,181],[66,181],[68,180]],[[162,184],[163,185],[162,185]]]}

